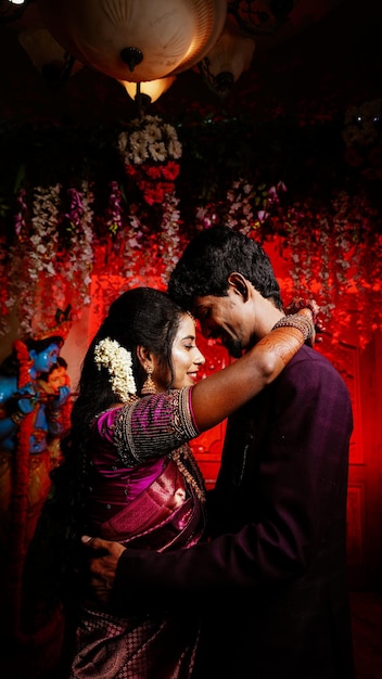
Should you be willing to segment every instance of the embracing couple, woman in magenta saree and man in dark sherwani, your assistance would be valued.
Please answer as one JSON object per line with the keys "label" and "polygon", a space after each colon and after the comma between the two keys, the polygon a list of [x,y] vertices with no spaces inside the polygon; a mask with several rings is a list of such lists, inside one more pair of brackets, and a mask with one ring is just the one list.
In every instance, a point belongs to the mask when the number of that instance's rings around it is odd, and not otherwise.
{"label": "embracing couple, woman in magenta saree and man in dark sherwani", "polygon": [[[54,472],[72,679],[354,677],[351,401],[313,348],[315,308],[292,311],[263,248],[226,227],[188,245],[168,294],[111,305]],[[205,380],[195,319],[237,359]],[[226,418],[206,492],[189,441]]]}

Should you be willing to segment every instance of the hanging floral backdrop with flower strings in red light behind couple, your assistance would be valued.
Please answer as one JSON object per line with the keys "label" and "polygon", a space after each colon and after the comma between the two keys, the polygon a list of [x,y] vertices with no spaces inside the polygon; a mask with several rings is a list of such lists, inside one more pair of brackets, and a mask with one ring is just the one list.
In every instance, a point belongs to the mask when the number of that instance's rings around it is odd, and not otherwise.
{"label": "hanging floral backdrop with flower strings in red light behind couple", "polygon": [[160,274],[165,287],[189,240],[220,222],[277,243],[285,300],[314,294],[334,341],[352,322],[360,346],[382,328],[382,100],[257,125],[195,112],[107,128],[3,123],[1,154],[3,335],[14,315],[23,336],[58,308],[76,320],[92,277],[127,289]]}

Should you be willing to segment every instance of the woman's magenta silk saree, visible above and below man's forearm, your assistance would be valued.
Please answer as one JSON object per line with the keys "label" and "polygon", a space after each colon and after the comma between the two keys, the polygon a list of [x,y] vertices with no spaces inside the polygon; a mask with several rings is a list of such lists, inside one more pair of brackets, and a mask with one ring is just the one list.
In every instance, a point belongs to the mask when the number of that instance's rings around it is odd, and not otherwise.
{"label": "woman's magenta silk saree, visible above and below man's forearm", "polygon": [[[201,537],[201,501],[170,460],[161,476],[103,523],[100,534],[128,547],[168,550]],[[158,616],[119,617],[85,606],[76,631],[72,679],[188,679],[192,676],[199,620],[187,606]]]}

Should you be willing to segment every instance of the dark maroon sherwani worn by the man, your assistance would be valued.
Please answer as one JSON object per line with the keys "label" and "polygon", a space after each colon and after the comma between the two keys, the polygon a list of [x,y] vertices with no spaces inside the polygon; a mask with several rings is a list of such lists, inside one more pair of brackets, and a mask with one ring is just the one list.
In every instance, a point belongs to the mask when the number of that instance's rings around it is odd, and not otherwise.
{"label": "dark maroon sherwani worn by the man", "polygon": [[[229,398],[229,395],[227,395]],[[228,423],[211,542],[126,550],[114,600],[203,613],[198,677],[352,679],[346,585],[348,392],[304,346]],[[150,587],[149,587],[150,584]]]}

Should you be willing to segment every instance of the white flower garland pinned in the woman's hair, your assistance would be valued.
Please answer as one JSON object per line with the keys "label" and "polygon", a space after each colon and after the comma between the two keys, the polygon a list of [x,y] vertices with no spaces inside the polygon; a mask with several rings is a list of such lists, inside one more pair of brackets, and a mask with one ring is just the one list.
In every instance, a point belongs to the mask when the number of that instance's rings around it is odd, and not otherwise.
{"label": "white flower garland pinned in the woman's hair", "polygon": [[132,374],[131,354],[120,346],[116,340],[101,340],[94,348],[94,360],[98,369],[107,368],[113,392],[126,403],[137,386]]}

